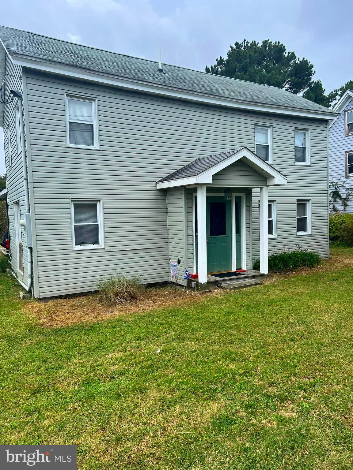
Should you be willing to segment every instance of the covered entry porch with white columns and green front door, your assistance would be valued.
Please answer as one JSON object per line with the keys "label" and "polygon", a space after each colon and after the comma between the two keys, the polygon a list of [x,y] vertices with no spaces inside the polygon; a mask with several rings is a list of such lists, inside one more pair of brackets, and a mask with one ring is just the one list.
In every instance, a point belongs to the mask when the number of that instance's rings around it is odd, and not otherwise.
{"label": "covered entry porch with white columns and green front door", "polygon": [[[253,189],[259,189],[260,195],[258,274],[268,273],[268,187],[286,182],[284,175],[247,148],[198,158],[157,182],[170,201],[168,229],[176,224],[176,200],[183,194],[183,265],[198,273],[201,284],[254,274],[250,256]],[[175,211],[170,210],[172,204]],[[171,232],[176,233],[176,228],[171,227]]]}

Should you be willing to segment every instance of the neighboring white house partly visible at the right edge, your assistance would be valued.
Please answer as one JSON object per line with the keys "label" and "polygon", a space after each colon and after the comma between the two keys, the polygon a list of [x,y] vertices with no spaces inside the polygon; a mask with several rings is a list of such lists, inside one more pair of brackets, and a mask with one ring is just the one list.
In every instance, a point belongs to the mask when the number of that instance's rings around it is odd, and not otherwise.
{"label": "neighboring white house partly visible at the right edge", "polygon": [[[342,186],[341,194],[353,187],[353,90],[347,90],[333,107],[338,118],[329,124],[329,181]],[[342,209],[340,203],[336,203]],[[353,213],[353,199],[347,206]]]}

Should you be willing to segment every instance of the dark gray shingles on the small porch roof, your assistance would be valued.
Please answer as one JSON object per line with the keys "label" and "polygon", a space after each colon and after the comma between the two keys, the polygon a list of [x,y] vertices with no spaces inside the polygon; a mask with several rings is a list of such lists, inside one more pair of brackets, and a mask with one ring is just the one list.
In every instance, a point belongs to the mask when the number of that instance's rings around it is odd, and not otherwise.
{"label": "dark gray shingles on the small porch roof", "polygon": [[[193,162],[188,163],[185,166],[182,166],[175,172],[170,173],[169,175],[165,176],[164,178],[162,178],[161,180],[157,182],[162,183],[163,181],[173,181],[173,180],[180,180],[182,178],[190,178],[193,176],[198,176],[201,173],[209,170],[213,166],[217,165],[218,163],[223,162],[223,160],[226,160],[227,158],[232,157],[235,153],[239,152],[242,149],[249,150],[247,147],[242,147],[239,149],[230,150],[229,152],[218,153],[217,155],[210,155],[209,157],[197,158],[196,160],[193,160]],[[251,152],[251,150],[249,150],[249,152]],[[253,152],[251,153],[255,155],[255,157],[257,157],[255,153]],[[260,160],[260,157],[257,157],[257,158]],[[261,160],[261,162],[263,163],[263,160]],[[270,165],[267,162],[265,163],[274,170],[272,165]],[[280,173],[278,170],[276,170],[276,172]]]}

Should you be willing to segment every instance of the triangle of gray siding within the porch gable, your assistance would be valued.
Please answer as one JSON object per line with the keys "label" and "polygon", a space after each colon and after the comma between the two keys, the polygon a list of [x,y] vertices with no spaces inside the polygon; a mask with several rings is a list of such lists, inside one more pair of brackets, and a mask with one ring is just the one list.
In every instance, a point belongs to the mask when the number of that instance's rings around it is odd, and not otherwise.
{"label": "triangle of gray siding within the porch gable", "polygon": [[226,186],[265,186],[266,179],[243,162],[235,162],[216,173],[212,184]]}

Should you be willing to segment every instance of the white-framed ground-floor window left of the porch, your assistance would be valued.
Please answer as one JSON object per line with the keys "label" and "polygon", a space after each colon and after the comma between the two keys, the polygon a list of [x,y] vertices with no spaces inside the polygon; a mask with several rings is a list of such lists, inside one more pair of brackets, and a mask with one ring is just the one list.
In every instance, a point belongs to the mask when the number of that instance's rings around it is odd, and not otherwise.
{"label": "white-framed ground-floor window left of the porch", "polygon": [[102,200],[71,200],[74,250],[104,248]]}

